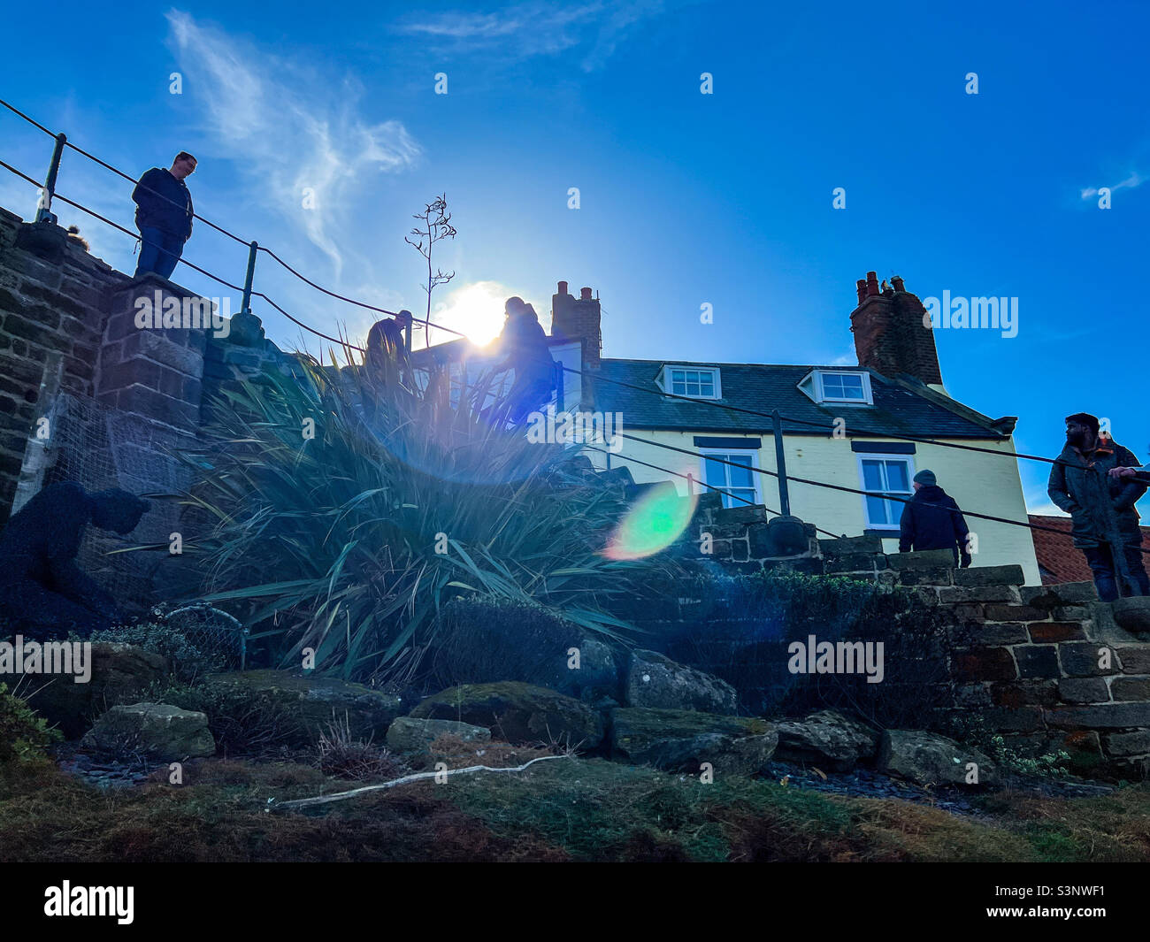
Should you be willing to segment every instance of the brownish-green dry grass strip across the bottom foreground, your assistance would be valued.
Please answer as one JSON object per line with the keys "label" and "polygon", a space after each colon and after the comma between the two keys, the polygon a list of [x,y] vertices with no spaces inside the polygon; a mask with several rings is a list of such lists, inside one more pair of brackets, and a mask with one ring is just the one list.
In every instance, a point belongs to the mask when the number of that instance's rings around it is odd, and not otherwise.
{"label": "brownish-green dry grass strip across the bottom foreground", "polygon": [[[521,765],[547,749],[465,743],[448,767]],[[348,788],[296,763],[189,763],[101,792],[49,763],[0,766],[0,859],[101,860],[1150,860],[1150,787],[1095,798],[1003,792],[959,817],[895,799],[828,797],[761,780],[702,784],[601,759],[419,782],[325,805],[267,799]]]}

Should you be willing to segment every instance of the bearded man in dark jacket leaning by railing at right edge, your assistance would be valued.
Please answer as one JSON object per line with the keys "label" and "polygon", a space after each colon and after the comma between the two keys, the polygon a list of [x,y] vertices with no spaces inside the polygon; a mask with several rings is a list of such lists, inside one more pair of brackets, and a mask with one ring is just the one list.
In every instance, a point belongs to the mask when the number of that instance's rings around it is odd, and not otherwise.
{"label": "bearded man in dark jacket leaning by railing at right edge", "polygon": [[1122,595],[1129,592],[1129,587],[1119,585],[1116,549],[1122,553],[1141,595],[1150,595],[1150,580],[1138,550],[1142,530],[1134,508],[1147,485],[1110,474],[1134,465],[1137,459],[1127,449],[1098,435],[1095,416],[1086,412],[1066,416],[1066,447],[1050,470],[1046,493],[1071,515],[1071,536],[1086,556],[1103,602],[1113,602],[1120,590]]}

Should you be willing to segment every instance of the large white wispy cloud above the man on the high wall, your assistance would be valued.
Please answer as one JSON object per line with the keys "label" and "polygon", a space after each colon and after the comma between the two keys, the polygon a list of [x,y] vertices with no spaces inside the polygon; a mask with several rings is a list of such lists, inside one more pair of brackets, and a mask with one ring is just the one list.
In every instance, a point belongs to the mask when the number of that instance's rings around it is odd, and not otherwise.
{"label": "large white wispy cloud above the man on the high wall", "polygon": [[208,131],[237,159],[248,191],[323,251],[338,277],[345,255],[338,232],[356,194],[370,175],[414,166],[419,144],[398,121],[365,117],[354,79],[314,75],[190,14],[167,16],[179,70],[195,91],[190,104],[202,106]]}

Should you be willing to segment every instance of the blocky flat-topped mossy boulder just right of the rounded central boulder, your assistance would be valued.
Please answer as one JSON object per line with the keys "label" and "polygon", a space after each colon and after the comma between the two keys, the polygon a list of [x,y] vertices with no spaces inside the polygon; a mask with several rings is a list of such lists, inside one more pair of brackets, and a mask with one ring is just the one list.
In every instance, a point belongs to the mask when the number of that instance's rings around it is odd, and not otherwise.
{"label": "blocky flat-topped mossy boulder just right of the rounded central boulder", "polygon": [[753,775],[779,743],[772,723],[697,710],[620,707],[611,711],[614,758],[668,772],[698,774],[703,763],[728,775]]}

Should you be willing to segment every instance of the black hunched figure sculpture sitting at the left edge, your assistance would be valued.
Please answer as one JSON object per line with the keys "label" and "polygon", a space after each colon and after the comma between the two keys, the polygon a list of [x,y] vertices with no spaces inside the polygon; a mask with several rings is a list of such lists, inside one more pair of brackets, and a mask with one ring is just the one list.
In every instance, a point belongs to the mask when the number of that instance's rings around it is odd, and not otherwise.
{"label": "black hunched figure sculpture sitting at the left edge", "polygon": [[87,493],[79,484],[49,484],[0,533],[0,618],[13,634],[45,640],[69,631],[86,637],[123,621],[116,600],[79,566],[84,529],[129,534],[148,504],[118,488]]}

